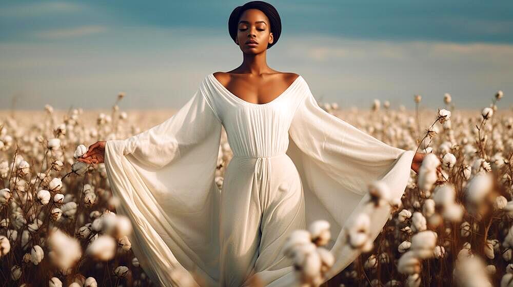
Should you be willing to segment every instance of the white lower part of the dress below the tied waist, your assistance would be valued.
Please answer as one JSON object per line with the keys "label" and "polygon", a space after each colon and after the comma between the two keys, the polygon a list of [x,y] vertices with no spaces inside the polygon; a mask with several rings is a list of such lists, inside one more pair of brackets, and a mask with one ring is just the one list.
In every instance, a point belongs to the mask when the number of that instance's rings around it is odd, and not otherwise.
{"label": "white lower part of the dress below the tied waist", "polygon": [[292,271],[282,247],[305,229],[305,197],[286,154],[234,156],[221,192],[221,286],[247,286],[252,275],[279,278]]}

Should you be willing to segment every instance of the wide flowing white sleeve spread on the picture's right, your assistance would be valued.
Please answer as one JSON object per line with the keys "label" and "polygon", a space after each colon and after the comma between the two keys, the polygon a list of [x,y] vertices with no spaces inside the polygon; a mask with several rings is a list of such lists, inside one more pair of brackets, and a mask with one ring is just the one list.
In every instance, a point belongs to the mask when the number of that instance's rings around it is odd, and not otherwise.
{"label": "wide flowing white sleeve spread on the picture's right", "polygon": [[346,244],[344,226],[359,213],[371,220],[372,240],[390,216],[390,207],[366,204],[368,184],[383,180],[391,198],[400,199],[410,177],[415,151],[392,147],[324,111],[306,82],[289,130],[287,155],[300,173],[306,220],[331,224],[328,244],[336,262],[327,279],[340,273],[359,253]]}

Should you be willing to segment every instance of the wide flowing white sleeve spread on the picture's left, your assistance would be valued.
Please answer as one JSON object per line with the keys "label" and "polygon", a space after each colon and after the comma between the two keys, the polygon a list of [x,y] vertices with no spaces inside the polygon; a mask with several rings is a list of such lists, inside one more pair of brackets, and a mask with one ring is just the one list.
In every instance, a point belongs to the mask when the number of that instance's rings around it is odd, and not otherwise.
{"label": "wide flowing white sleeve spread on the picture's left", "polygon": [[132,250],[156,285],[179,285],[173,269],[208,286],[218,282],[214,178],[222,124],[202,85],[160,125],[105,147],[107,177],[120,199],[116,212],[131,219]]}

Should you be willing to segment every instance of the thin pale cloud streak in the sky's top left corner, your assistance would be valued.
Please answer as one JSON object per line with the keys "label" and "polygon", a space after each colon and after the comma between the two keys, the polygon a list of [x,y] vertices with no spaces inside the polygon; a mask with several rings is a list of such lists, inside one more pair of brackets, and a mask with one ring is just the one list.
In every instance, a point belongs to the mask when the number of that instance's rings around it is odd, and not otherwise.
{"label": "thin pale cloud streak in the sky's top left corner", "polygon": [[75,3],[46,2],[3,7],[0,16],[8,18],[34,17],[51,13],[81,11],[84,7]]}

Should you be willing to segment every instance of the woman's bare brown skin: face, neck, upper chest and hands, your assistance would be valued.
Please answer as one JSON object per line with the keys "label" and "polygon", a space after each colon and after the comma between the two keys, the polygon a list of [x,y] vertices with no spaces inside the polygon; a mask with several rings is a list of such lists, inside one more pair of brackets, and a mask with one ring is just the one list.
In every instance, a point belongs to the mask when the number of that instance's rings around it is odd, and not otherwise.
{"label": "woman's bare brown skin: face, neck, upper chest and hands", "polygon": [[[274,41],[269,18],[258,9],[245,10],[239,18],[235,44],[243,53],[242,64],[228,72],[215,72],[214,77],[233,95],[251,104],[267,104],[281,95],[299,77],[295,73],[283,73],[267,66],[267,44]],[[256,45],[248,45],[253,39]],[[105,140],[92,144],[78,160],[85,163],[101,163],[105,160]],[[411,169],[419,172],[425,154],[416,153]],[[439,168],[440,171],[440,168]]]}

